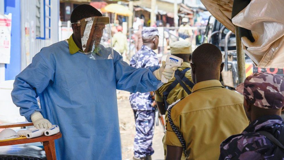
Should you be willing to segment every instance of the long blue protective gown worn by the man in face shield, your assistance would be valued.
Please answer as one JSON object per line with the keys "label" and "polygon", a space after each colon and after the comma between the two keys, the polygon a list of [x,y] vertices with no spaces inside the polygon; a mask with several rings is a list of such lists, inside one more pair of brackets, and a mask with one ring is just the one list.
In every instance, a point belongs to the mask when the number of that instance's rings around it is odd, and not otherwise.
{"label": "long blue protective gown worn by the man in face shield", "polygon": [[116,51],[107,60],[70,54],[60,41],[42,48],[16,76],[12,99],[20,114],[31,122],[40,111],[60,127],[57,159],[121,159],[116,89],[149,92],[162,85],[152,74],[158,66],[134,68],[122,59]]}

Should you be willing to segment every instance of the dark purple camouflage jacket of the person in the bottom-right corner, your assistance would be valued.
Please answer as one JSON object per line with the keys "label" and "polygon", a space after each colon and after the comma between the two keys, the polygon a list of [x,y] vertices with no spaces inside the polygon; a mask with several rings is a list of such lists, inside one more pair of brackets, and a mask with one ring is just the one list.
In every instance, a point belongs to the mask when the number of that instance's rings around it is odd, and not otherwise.
{"label": "dark purple camouflage jacket of the person in the bottom-right corner", "polygon": [[283,127],[283,119],[278,115],[259,117],[241,134],[230,136],[221,143],[219,160],[273,159],[276,145],[256,131],[267,131],[278,139]]}

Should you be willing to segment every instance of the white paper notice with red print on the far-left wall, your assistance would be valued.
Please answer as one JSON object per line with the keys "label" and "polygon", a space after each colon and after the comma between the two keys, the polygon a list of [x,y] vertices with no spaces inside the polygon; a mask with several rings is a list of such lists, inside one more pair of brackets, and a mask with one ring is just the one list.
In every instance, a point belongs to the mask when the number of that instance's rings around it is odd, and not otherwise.
{"label": "white paper notice with red print on the far-left wall", "polygon": [[0,14],[0,63],[10,63],[11,25],[12,14]]}

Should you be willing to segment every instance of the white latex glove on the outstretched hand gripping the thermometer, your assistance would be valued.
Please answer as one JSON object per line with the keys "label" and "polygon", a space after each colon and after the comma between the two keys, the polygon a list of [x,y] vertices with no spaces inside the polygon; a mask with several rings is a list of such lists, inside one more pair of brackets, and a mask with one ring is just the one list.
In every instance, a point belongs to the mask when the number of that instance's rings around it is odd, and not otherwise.
{"label": "white latex glove on the outstretched hand gripping the thermometer", "polygon": [[165,76],[166,79],[171,80],[173,79],[173,76],[175,75],[175,70],[177,70],[177,67],[165,69],[166,62],[162,61],[161,68],[155,70],[153,74],[158,80],[161,80],[162,75]]}

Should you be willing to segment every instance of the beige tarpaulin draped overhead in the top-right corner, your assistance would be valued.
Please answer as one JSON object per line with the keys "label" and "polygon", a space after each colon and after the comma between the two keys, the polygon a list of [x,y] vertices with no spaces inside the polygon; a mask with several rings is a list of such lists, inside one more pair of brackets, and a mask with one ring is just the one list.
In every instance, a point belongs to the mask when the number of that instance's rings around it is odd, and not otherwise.
{"label": "beige tarpaulin draped overhead in the top-right corner", "polygon": [[244,52],[261,68],[284,68],[284,2],[252,0],[231,21],[233,0],[201,0],[207,10],[224,26],[251,30],[255,39],[242,37]]}

